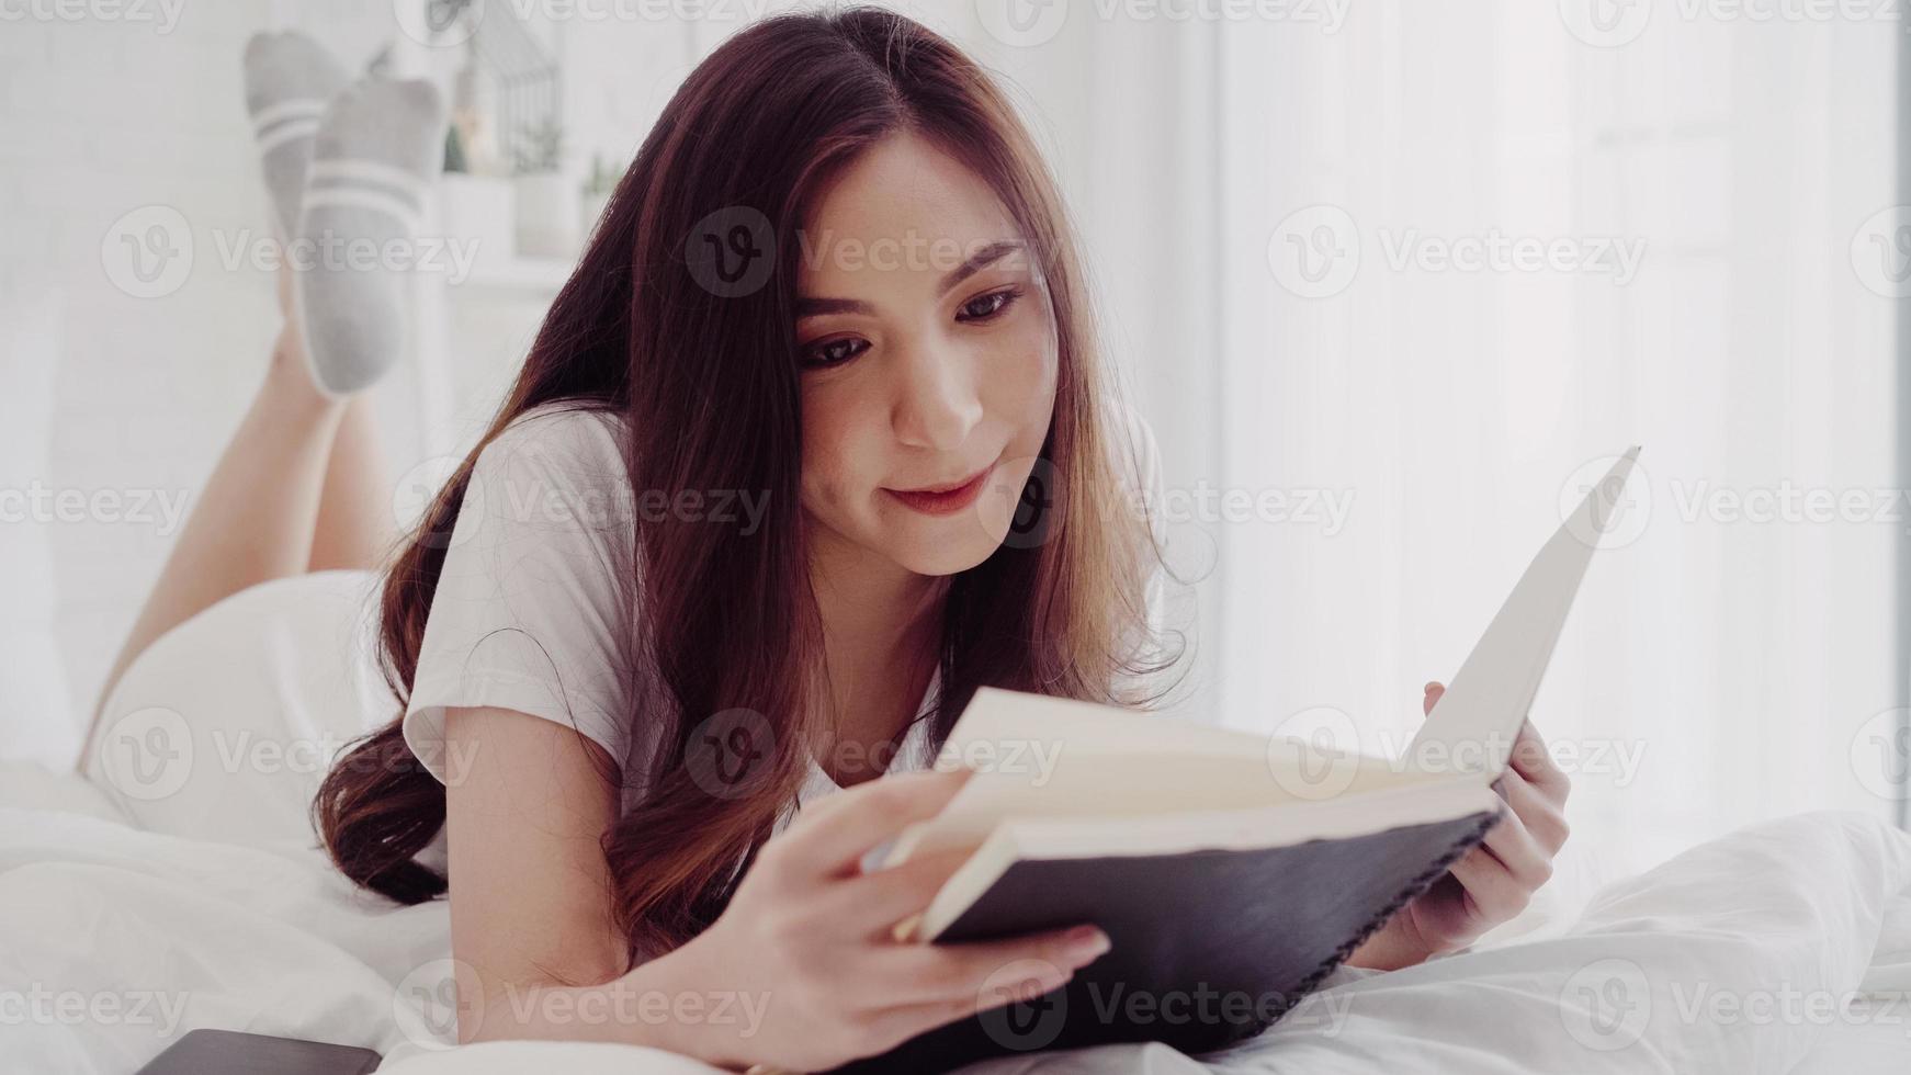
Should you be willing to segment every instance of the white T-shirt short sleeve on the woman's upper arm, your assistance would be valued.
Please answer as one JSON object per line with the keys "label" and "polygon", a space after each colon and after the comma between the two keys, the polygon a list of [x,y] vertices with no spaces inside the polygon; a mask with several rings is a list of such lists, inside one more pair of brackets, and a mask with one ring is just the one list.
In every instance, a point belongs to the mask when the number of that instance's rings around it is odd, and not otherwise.
{"label": "white T-shirt short sleeve on the woman's upper arm", "polygon": [[445,779],[445,708],[575,727],[623,766],[619,584],[634,554],[617,418],[533,411],[472,466],[405,708],[405,743]]}

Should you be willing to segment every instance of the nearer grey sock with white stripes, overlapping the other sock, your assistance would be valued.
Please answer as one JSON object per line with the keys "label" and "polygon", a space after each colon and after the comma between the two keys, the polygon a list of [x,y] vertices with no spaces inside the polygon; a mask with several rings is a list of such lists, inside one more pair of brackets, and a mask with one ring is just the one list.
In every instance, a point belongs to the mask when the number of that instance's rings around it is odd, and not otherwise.
{"label": "nearer grey sock with white stripes, overlapping the other sock", "polygon": [[443,153],[445,103],[430,82],[365,76],[325,109],[296,231],[317,252],[296,285],[306,361],[321,391],[363,391],[397,363],[411,273],[384,254],[367,265],[350,252],[417,237]]}

